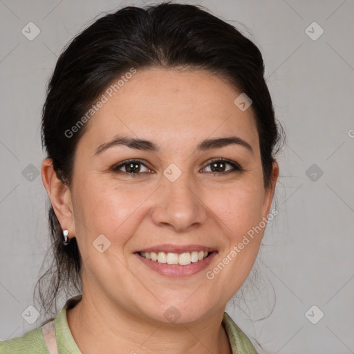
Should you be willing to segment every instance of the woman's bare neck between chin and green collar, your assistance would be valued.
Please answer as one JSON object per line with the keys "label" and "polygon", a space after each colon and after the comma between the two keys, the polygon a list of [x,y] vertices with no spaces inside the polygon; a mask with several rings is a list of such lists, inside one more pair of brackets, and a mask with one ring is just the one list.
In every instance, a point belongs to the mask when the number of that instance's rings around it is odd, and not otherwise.
{"label": "woman's bare neck between chin and green collar", "polygon": [[120,353],[131,354],[232,353],[221,325],[223,310],[200,322],[167,324],[83,296],[66,315],[73,338],[84,354],[115,354],[117,348]]}

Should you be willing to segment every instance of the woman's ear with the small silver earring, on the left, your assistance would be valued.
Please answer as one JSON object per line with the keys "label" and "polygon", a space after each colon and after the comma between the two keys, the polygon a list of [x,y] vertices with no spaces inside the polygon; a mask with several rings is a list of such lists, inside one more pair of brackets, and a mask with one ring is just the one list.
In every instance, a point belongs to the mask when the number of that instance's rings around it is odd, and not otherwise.
{"label": "woman's ear with the small silver earring, on the left", "polygon": [[41,164],[41,179],[52,203],[62,230],[68,230],[68,237],[75,235],[75,222],[71,192],[64,185],[53,168],[53,160],[46,158]]}

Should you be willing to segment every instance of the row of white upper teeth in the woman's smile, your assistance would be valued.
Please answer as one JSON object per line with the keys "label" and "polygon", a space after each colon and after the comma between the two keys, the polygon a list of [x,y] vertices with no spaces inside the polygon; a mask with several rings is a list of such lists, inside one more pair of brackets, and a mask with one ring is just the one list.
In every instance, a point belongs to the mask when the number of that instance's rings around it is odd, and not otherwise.
{"label": "row of white upper teeth in the woman's smile", "polygon": [[187,265],[202,261],[207,257],[207,251],[194,251],[184,253],[165,253],[165,252],[139,252],[140,256],[158,263]]}

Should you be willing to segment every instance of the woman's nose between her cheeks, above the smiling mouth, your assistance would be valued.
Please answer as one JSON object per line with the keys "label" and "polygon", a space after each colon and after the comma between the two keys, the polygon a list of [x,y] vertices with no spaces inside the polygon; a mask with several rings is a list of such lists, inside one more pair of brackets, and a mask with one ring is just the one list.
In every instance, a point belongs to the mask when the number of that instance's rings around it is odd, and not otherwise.
{"label": "woman's nose between her cheeks, above the smiling mouth", "polygon": [[186,173],[174,182],[165,178],[157,191],[151,213],[153,223],[175,232],[200,227],[207,221],[207,207],[202,198],[201,191],[192,180],[188,180]]}

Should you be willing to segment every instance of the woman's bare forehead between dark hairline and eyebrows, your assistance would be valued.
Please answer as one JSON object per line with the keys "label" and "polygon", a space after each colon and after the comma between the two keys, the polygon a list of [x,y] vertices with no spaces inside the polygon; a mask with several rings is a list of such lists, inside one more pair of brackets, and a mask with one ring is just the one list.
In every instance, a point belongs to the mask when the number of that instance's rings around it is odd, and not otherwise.
{"label": "woman's bare forehead between dark hairline and eyebrows", "polygon": [[234,104],[240,92],[207,71],[137,70],[116,91],[111,97],[103,93],[106,102],[91,118],[84,140],[97,145],[124,133],[171,146],[237,135],[258,144],[252,109],[241,111]]}

